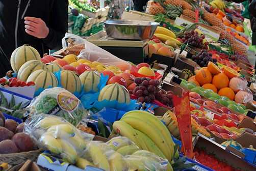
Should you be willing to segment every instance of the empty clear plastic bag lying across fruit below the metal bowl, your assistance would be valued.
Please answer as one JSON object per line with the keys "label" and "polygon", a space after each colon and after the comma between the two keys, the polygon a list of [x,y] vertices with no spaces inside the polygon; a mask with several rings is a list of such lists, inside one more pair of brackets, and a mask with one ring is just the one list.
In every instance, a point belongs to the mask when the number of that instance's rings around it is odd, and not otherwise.
{"label": "empty clear plastic bag lying across fruit below the metal bowl", "polygon": [[80,59],[86,59],[91,62],[97,61],[106,66],[114,65],[123,71],[131,69],[131,65],[128,62],[117,58],[115,55],[109,53],[108,51],[88,42],[87,40],[85,40],[79,36],[73,35],[73,34],[66,33],[65,37],[62,39],[63,48],[67,47],[66,46],[67,38],[75,39],[75,42],[77,44],[85,45],[85,49],[82,49],[80,54],[78,55],[78,58],[80,58]]}

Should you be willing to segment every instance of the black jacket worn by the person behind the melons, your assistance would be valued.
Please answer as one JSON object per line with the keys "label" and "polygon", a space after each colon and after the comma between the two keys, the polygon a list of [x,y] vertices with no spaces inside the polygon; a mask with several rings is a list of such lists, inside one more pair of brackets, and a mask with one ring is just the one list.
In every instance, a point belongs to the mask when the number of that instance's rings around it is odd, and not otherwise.
{"label": "black jacket worn by the person behind the melons", "polygon": [[[68,27],[67,10],[68,0],[0,0],[0,76],[11,70],[11,54],[23,44],[36,48],[41,56],[49,49],[60,49]],[[25,32],[26,16],[46,23],[49,34],[45,39]]]}

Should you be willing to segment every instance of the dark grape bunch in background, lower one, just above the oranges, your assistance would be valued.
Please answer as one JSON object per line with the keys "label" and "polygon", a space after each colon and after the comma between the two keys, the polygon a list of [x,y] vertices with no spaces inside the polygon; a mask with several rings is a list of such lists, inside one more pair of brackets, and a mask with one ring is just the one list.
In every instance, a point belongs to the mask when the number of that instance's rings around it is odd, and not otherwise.
{"label": "dark grape bunch in background, lower one, just above the oranges", "polygon": [[197,55],[192,56],[192,60],[196,62],[200,67],[207,67],[208,63],[211,61],[217,65],[217,59],[212,59],[212,53],[208,53],[206,49],[203,49]]}

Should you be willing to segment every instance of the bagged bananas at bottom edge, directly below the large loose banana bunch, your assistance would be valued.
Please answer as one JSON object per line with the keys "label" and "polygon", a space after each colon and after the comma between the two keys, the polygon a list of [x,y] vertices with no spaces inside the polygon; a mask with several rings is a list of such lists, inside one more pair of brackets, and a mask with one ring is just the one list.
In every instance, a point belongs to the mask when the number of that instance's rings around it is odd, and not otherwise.
{"label": "bagged bananas at bottom edge, directly below the large loose banana bunch", "polygon": [[145,150],[138,150],[124,159],[129,170],[166,170],[168,164],[168,160]]}

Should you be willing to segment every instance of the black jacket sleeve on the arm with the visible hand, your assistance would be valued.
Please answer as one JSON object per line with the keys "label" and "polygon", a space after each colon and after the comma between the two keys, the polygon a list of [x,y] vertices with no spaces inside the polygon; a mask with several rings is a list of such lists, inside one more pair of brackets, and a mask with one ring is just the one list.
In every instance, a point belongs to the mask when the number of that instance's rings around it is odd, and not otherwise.
{"label": "black jacket sleeve on the arm with the visible hand", "polygon": [[54,0],[50,23],[47,26],[49,34],[42,39],[43,44],[52,50],[61,49],[61,40],[68,29],[68,0]]}

